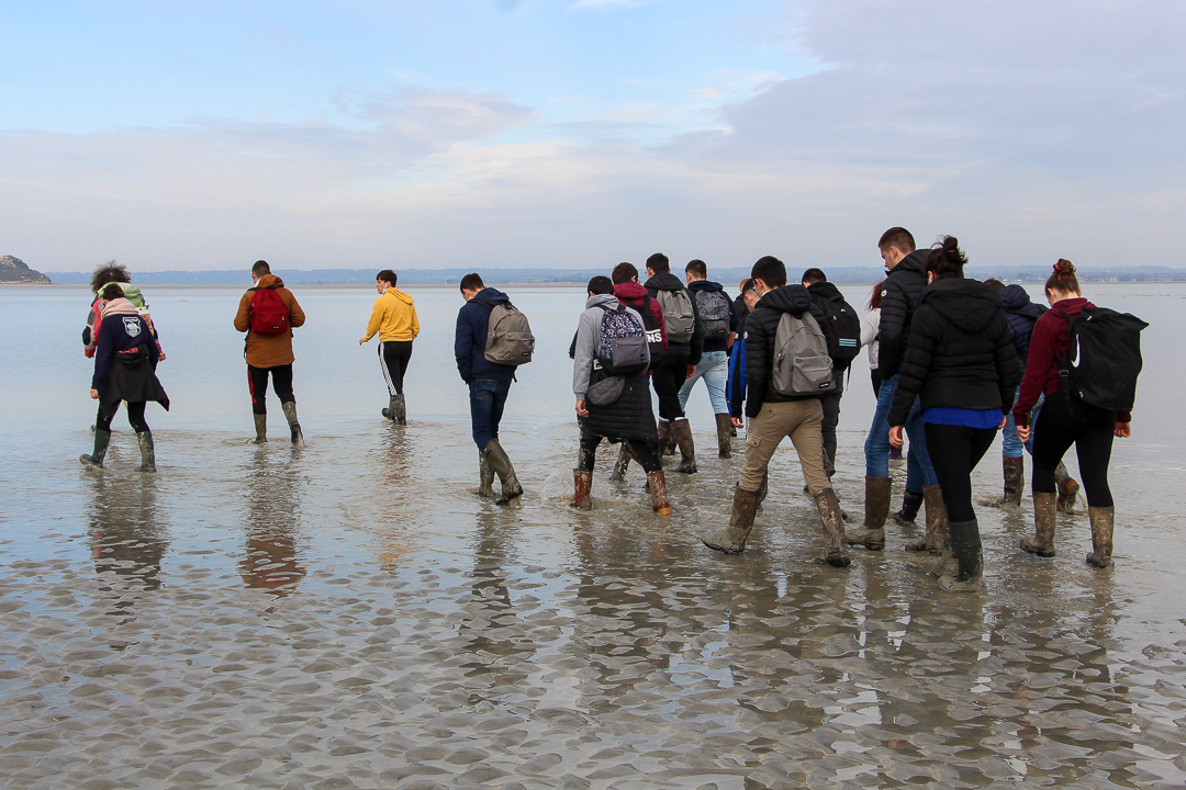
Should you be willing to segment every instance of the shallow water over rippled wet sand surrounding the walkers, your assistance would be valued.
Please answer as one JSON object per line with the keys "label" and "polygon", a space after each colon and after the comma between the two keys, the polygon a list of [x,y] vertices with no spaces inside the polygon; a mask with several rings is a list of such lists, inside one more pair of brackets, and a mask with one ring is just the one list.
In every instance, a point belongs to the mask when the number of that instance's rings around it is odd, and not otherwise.
{"label": "shallow water over rippled wet sand surrounding the walkers", "polygon": [[[1156,290],[1154,290],[1156,289]],[[1024,510],[980,507],[988,593],[938,591],[901,550],[815,561],[793,452],[741,557],[693,396],[700,474],[653,516],[637,467],[573,513],[567,346],[580,289],[508,288],[540,338],[503,443],[528,495],[477,486],[451,354],[455,289],[414,289],[425,330],[409,420],[385,404],[374,291],[299,289],[295,390],[308,447],[249,444],[241,291],[148,290],[173,411],[160,471],[116,418],[89,449],[82,289],[0,290],[0,777],[20,788],[1180,788],[1186,452],[1180,285],[1092,288],[1149,320],[1134,433],[1117,442],[1116,566],[1016,550]],[[846,288],[857,303],[863,288]],[[1172,370],[1173,368],[1173,370]],[[857,513],[873,397],[844,398],[837,490]],[[740,449],[740,444],[735,444]],[[977,493],[1000,487],[994,448]],[[1071,463],[1072,470],[1075,464]],[[899,481],[900,482],[900,481]],[[900,486],[895,488],[895,501]],[[1028,496],[1025,506],[1028,507]]]}

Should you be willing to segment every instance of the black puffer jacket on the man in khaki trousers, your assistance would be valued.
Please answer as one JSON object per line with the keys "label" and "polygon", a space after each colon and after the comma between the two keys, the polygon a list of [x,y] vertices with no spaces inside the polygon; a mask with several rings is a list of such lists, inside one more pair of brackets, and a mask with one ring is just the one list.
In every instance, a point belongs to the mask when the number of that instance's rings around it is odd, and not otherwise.
{"label": "black puffer jacket on the man in khaki trousers", "polygon": [[788,400],[806,400],[820,396],[784,396],[770,384],[770,374],[774,368],[774,335],[783,313],[803,315],[810,311],[816,323],[828,338],[828,321],[808,289],[796,283],[783,285],[766,294],[753,307],[753,313],[745,320],[745,360],[746,360],[746,405],[747,417],[757,417],[763,404],[785,403]]}

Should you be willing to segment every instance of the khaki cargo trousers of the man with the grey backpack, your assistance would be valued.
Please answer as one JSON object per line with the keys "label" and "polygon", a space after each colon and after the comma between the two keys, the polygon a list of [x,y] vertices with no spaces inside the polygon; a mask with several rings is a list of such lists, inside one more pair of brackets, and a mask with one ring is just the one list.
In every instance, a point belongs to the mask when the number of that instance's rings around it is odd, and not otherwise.
{"label": "khaki cargo trousers of the man with the grey backpack", "polygon": [[812,493],[831,488],[823,468],[822,428],[823,405],[818,398],[764,404],[761,412],[750,420],[738,487],[747,492],[760,489],[778,443],[784,436],[790,436],[795,451],[799,454],[799,467],[808,488]]}

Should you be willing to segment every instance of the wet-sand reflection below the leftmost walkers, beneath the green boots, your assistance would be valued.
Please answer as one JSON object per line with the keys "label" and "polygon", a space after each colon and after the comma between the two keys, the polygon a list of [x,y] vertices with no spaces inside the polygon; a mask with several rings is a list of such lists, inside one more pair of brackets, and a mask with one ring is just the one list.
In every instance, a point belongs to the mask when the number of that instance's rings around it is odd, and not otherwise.
{"label": "wet-sand reflection below the leftmost walkers, beneath the green boots", "polygon": [[[157,479],[149,475],[98,475],[89,479],[90,554],[114,606],[126,612],[146,590],[161,585],[160,565],[168,550],[168,528],[157,512]],[[114,574],[109,577],[107,574]]]}

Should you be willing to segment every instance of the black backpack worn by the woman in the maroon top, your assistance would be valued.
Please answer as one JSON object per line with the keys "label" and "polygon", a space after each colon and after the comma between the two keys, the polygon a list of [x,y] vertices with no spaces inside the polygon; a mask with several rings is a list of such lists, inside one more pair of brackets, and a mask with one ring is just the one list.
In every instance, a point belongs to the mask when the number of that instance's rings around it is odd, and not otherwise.
{"label": "black backpack worn by the woman in the maroon top", "polygon": [[1066,353],[1058,364],[1063,393],[1108,411],[1131,411],[1141,374],[1141,330],[1148,323],[1107,307],[1085,307],[1066,319]]}

